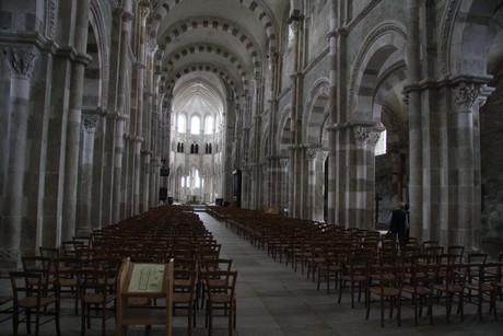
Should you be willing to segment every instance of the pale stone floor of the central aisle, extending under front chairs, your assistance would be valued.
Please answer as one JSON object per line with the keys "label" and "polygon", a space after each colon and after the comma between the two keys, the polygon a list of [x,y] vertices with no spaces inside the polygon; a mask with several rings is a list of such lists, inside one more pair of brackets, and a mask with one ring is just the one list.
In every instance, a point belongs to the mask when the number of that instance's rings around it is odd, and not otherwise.
{"label": "pale stone floor of the central aisle, extending under front chairs", "polygon": [[[454,314],[449,323],[445,321],[445,305],[434,304],[434,324],[430,325],[425,316],[418,326],[413,321],[413,309],[409,303],[402,306],[401,326],[396,320],[386,317],[385,327],[381,327],[379,310],[372,305],[370,320],[365,320],[363,303],[351,309],[349,294],[343,293],[342,302],[337,303],[336,292],[327,294],[324,289],[316,290],[316,285],[300,271],[294,273],[290,266],[280,264],[267,256],[267,252],[257,250],[247,241],[239,239],[223,224],[206,212],[200,212],[207,228],[222,243],[222,255],[234,259],[238,270],[237,280],[237,328],[234,335],[241,336],[279,336],[279,335],[503,335],[503,301],[498,301],[499,321],[492,315],[483,314],[479,322],[476,306],[466,303],[465,322]],[[1,293],[10,290],[7,279],[1,279]],[[63,301],[61,331],[62,335],[80,334],[80,317],[73,316],[70,302]],[[0,315],[0,318],[2,316]],[[226,335],[226,320],[217,318],[213,335]],[[144,327],[132,327],[129,335],[144,335]],[[195,335],[207,335],[202,311],[197,315]],[[0,335],[12,335],[11,321],[0,323]],[[20,335],[26,335],[24,325]],[[54,324],[46,324],[40,336],[55,335]],[[92,321],[92,328],[86,335],[101,335],[100,321]],[[107,335],[115,335],[114,320],[108,320]],[[150,335],[165,335],[164,327],[154,326]],[[187,335],[186,317],[175,316],[173,335]]]}

